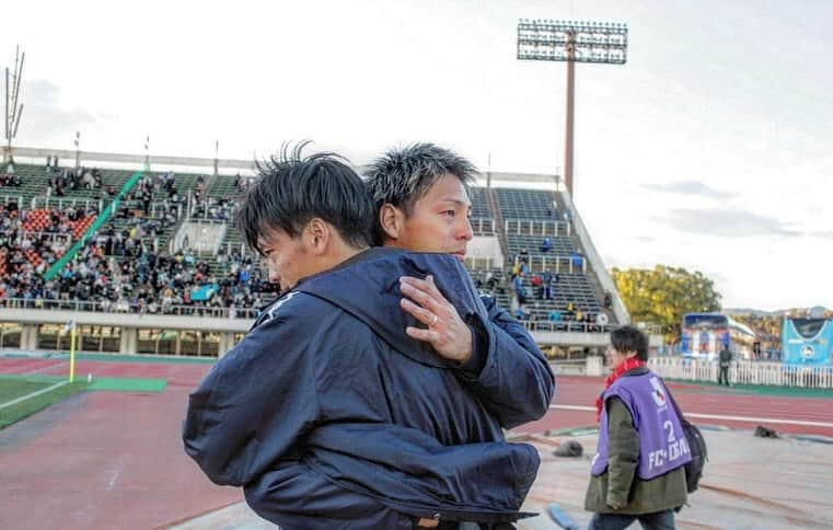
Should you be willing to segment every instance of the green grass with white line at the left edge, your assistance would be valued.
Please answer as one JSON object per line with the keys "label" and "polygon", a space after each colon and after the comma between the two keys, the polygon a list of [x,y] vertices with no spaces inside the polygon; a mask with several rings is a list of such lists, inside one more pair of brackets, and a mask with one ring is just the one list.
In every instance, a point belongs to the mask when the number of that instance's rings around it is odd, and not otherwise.
{"label": "green grass with white line at the left edge", "polygon": [[[53,384],[55,381],[43,379],[0,378],[0,406]],[[0,430],[72,394],[86,390],[86,381],[74,381],[13,405],[3,406],[0,408]]]}

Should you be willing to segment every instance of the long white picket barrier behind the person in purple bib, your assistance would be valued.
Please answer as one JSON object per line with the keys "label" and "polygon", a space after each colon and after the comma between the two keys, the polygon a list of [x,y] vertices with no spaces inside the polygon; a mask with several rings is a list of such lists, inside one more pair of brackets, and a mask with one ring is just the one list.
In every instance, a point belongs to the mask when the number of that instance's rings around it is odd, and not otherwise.
{"label": "long white picket barrier behind the person in purple bib", "polygon": [[[716,360],[683,359],[680,357],[652,357],[650,369],[663,378],[684,381],[717,381]],[[733,361],[729,368],[732,384],[771,384],[776,387],[801,387],[833,389],[833,367],[796,366],[782,362]]]}

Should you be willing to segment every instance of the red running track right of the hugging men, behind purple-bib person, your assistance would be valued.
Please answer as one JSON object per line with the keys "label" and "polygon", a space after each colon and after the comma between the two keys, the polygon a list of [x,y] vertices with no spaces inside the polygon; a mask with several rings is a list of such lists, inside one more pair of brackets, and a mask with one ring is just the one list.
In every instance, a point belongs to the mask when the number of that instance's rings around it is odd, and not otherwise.
{"label": "red running track right of the hugging men, behind purple-bib person", "polygon": [[[595,426],[594,411],[557,407],[593,407],[595,398],[603,388],[603,378],[558,377],[556,395],[553,400],[556,408],[551,407],[549,413],[542,419],[523,425],[516,430],[544,433],[549,429]],[[833,392],[829,399],[824,399],[762,395],[734,388],[684,383],[669,383],[669,388],[683,412],[696,424],[740,429],[754,429],[759,425],[764,425],[785,434],[833,437]],[[717,417],[699,417],[698,415]],[[747,419],[738,420],[731,417]],[[772,422],[773,419],[776,422]]]}

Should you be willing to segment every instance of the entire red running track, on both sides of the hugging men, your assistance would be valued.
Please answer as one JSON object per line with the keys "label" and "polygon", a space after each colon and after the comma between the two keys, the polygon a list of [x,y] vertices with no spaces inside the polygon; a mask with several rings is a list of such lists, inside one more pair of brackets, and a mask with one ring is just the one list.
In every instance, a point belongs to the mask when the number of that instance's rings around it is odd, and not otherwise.
{"label": "entire red running track, on both sides of the hugging men", "polygon": [[[0,529],[155,528],[242,500],[211,484],[185,454],[181,422],[208,365],[81,360],[79,377],[164,378],[162,393],[85,392],[0,431]],[[0,358],[0,373],[67,373],[60,359]],[[592,406],[601,378],[559,377],[555,405]],[[833,401],[772,398],[671,384],[686,413],[817,420],[833,427]],[[745,429],[756,423],[696,420]],[[594,426],[592,411],[551,410],[519,431]],[[833,436],[833,428],[770,425]]]}

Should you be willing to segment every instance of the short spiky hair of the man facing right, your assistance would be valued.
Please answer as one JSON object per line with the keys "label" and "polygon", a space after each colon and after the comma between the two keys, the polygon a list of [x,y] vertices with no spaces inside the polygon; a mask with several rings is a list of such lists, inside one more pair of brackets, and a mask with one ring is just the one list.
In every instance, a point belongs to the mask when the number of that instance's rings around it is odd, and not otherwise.
{"label": "short spiky hair of the man facing right", "polygon": [[382,244],[384,230],[379,210],[385,203],[401,208],[406,216],[417,200],[446,174],[460,178],[466,189],[474,184],[477,169],[450,149],[433,143],[412,143],[387,150],[365,168],[365,184],[373,199],[373,242]]}

